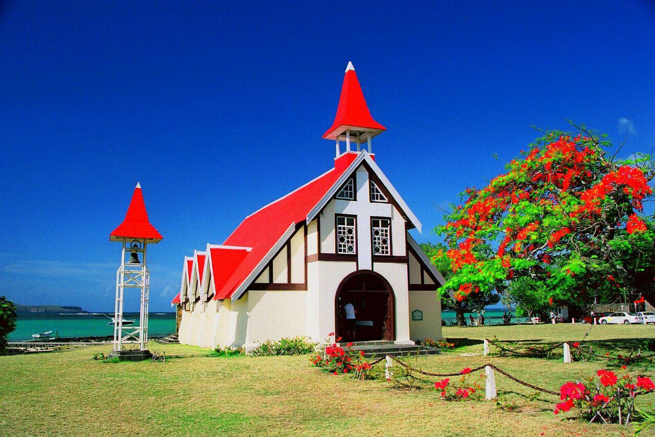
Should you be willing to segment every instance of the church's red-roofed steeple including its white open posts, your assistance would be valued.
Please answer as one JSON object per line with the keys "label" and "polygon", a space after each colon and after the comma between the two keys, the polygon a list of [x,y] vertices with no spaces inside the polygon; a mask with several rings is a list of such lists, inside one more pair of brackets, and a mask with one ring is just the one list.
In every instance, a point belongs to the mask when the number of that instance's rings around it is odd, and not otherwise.
{"label": "church's red-roofed steeple including its white open posts", "polygon": [[339,97],[339,106],[337,106],[337,115],[334,117],[334,123],[323,134],[326,140],[336,140],[337,157],[341,151],[339,149],[339,140],[345,140],[346,151],[350,151],[350,143],[356,142],[357,151],[360,151],[362,142],[368,143],[368,151],[371,150],[371,138],[384,132],[386,128],[373,120],[371,112],[366,105],[362,86],[357,79],[355,67],[352,62],[348,62],[346,74],[343,77],[341,86],[341,97]]}

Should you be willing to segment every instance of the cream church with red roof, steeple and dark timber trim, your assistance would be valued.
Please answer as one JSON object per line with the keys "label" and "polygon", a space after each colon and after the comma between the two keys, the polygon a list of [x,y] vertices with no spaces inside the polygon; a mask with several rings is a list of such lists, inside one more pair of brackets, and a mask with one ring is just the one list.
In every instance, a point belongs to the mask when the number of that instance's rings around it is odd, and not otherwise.
{"label": "cream church with red roof, steeple and dark timber trim", "polygon": [[336,144],[333,168],[246,217],[223,244],[185,257],[172,301],[181,343],[252,348],[331,332],[350,340],[348,303],[357,341],[441,337],[443,277],[407,232],[421,231],[419,219],[375,163],[371,139],[384,130],[348,63],[323,136]]}

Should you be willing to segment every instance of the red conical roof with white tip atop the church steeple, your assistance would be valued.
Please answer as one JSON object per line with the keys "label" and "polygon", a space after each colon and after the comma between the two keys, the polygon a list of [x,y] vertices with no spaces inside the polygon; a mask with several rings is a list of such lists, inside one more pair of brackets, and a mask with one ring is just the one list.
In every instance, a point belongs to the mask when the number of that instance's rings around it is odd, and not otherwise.
{"label": "red conical roof with white tip atop the church steeple", "polygon": [[334,123],[323,134],[323,138],[326,138],[326,140],[335,140],[337,136],[348,129],[371,132],[371,136],[375,136],[386,130],[382,124],[377,123],[371,117],[371,112],[366,105],[364,92],[362,92],[360,81],[357,80],[357,73],[355,73],[355,67],[352,66],[352,62],[348,62],[346,74],[343,77],[341,97],[339,97],[339,106],[337,106],[337,115],[334,117]]}

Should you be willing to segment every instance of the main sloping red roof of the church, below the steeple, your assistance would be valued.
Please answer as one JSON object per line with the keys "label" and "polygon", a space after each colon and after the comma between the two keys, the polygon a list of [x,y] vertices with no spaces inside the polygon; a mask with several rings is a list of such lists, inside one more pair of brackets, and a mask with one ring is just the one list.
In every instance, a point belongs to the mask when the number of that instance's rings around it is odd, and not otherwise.
{"label": "main sloping red roof of the church, below the steeple", "polygon": [[[355,158],[355,153],[342,155],[335,161],[336,168],[246,217],[223,244],[252,248],[252,250],[245,254],[231,252],[229,266],[225,269],[227,278],[221,286],[218,284],[219,281],[215,283],[214,299],[221,300],[232,297],[236,288],[248,278],[248,275],[253,272],[275,243],[282,238],[287,229],[293,224],[303,223],[310,210],[316,206],[348,168],[347,164],[345,166],[337,164],[343,164],[342,161],[352,162]],[[242,259],[237,263],[239,257]],[[221,265],[214,263],[213,259],[212,255],[214,278],[217,278],[217,273],[221,273]],[[233,272],[228,275],[227,271],[230,270]]]}

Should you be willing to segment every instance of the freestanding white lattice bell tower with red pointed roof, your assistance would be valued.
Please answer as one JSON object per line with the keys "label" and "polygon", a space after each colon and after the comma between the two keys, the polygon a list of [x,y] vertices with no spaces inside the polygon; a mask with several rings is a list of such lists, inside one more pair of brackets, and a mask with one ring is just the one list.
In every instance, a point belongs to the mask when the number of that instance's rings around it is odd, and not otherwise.
{"label": "freestanding white lattice bell tower with red pointed roof", "polygon": [[[114,326],[114,340],[110,357],[132,361],[147,360],[151,357],[148,351],[150,271],[146,264],[146,252],[148,244],[156,244],[162,238],[164,237],[159,231],[150,224],[141,185],[137,183],[125,219],[109,234],[109,240],[120,242],[122,247],[121,263],[116,272],[116,303],[111,322]],[[123,318],[126,292],[140,293],[138,326],[132,325],[134,321]]]}

